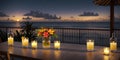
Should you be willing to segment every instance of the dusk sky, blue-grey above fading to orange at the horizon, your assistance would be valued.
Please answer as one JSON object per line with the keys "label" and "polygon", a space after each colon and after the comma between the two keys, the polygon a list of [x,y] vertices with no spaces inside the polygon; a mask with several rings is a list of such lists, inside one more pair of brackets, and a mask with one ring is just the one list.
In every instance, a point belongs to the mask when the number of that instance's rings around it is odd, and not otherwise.
{"label": "dusk sky, blue-grey above fading to orange at the horizon", "polygon": [[[93,0],[0,0],[0,12],[10,19],[22,19],[24,14],[38,11],[44,15],[61,16],[62,20],[104,20],[109,19],[109,9],[109,6],[95,5]],[[119,10],[120,6],[116,6],[115,17],[120,17]],[[87,16],[84,12],[88,13]]]}

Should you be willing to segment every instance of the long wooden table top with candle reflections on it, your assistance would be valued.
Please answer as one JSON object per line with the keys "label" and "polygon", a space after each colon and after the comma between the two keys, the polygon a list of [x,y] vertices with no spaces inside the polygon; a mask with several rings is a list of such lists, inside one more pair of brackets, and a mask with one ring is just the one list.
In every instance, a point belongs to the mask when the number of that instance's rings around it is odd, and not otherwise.
{"label": "long wooden table top with candle reflections on it", "polygon": [[22,48],[21,42],[14,42],[14,46],[8,46],[7,42],[0,43],[0,52],[9,52],[13,55],[32,57],[41,60],[120,60],[120,49],[111,52],[110,55],[103,54],[103,46],[95,46],[95,50],[88,52],[86,45],[61,43],[60,50],[56,50],[51,44],[51,48],[42,48],[38,44],[37,49]]}

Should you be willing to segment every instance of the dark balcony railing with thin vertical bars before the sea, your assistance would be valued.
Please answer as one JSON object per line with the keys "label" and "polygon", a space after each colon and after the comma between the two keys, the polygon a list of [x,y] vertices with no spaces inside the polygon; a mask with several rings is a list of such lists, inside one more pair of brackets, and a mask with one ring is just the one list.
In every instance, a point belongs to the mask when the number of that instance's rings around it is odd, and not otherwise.
{"label": "dark balcony railing with thin vertical bars before the sea", "polygon": [[[38,29],[38,28],[36,28]],[[80,29],[80,28],[54,28],[58,34],[58,39],[62,43],[86,44],[86,40],[92,39],[95,45],[109,46],[109,29]],[[1,27],[0,30],[9,32],[10,30],[21,30],[19,27]],[[118,46],[120,47],[120,29],[114,29]],[[38,39],[39,42],[41,40]],[[51,39],[51,42],[54,40]]]}

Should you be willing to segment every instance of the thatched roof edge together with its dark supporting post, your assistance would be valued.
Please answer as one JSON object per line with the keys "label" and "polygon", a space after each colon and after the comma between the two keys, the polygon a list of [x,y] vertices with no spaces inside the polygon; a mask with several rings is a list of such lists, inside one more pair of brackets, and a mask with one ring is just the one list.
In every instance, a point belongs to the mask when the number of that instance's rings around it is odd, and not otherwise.
{"label": "thatched roof edge together with its dark supporting post", "polygon": [[120,5],[120,0],[94,0],[99,6],[110,6],[110,37],[114,32],[114,6]]}

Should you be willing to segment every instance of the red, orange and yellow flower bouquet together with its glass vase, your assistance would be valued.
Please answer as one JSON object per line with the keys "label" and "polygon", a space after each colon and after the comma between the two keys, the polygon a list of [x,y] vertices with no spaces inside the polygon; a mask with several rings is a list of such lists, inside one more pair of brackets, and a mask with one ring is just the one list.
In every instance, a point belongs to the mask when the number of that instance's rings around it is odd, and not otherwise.
{"label": "red, orange and yellow flower bouquet together with its glass vase", "polygon": [[51,37],[57,38],[57,35],[55,34],[55,30],[53,28],[41,28],[41,29],[39,29],[38,36],[42,37],[43,48],[50,47]]}

